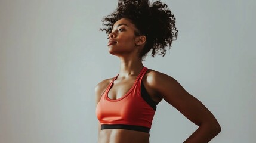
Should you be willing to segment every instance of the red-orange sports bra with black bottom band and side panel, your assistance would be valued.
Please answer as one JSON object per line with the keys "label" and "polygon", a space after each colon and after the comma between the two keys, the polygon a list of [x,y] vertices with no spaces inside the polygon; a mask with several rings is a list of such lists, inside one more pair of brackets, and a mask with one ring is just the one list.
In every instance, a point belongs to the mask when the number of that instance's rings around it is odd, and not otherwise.
{"label": "red-orange sports bra with black bottom band and side panel", "polygon": [[147,68],[143,67],[132,88],[127,94],[116,100],[110,99],[107,95],[118,75],[107,86],[96,107],[101,130],[128,129],[149,133],[156,110],[156,102],[149,97],[142,82],[146,71]]}

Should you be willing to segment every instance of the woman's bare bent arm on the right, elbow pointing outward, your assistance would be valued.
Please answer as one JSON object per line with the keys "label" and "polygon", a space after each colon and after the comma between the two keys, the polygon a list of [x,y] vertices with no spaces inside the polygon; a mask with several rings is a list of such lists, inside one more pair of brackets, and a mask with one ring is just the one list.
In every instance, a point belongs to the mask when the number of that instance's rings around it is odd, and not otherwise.
{"label": "woman's bare bent arm on the right, elbow pointing outward", "polygon": [[199,128],[186,139],[186,143],[204,143],[211,141],[221,131],[214,115],[198,99],[190,95],[174,78],[153,71],[147,77],[147,83],[169,104],[177,108]]}

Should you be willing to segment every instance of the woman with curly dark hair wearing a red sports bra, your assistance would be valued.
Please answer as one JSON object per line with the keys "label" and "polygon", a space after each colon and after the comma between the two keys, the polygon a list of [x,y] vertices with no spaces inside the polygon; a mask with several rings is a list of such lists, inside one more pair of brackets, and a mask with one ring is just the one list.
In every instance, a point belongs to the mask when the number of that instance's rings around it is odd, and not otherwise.
{"label": "woman with curly dark hair wearing a red sports bra", "polygon": [[209,142],[221,128],[211,112],[171,76],[147,69],[149,51],[163,56],[177,38],[175,17],[156,1],[119,1],[103,20],[109,52],[119,57],[119,74],[95,87],[100,143],[146,143],[156,105],[164,99],[199,128],[185,142]]}

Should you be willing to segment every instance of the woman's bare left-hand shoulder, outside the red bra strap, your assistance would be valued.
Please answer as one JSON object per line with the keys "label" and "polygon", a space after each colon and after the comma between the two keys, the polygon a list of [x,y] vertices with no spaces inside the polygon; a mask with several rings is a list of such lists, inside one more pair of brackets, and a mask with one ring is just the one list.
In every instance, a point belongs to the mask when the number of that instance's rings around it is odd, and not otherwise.
{"label": "woman's bare left-hand shoulder, outside the red bra strap", "polygon": [[98,101],[100,101],[101,95],[106,90],[107,86],[110,84],[110,82],[112,80],[113,80],[113,78],[104,79],[95,86],[94,91],[95,91],[95,95],[96,95],[96,103],[98,103]]}

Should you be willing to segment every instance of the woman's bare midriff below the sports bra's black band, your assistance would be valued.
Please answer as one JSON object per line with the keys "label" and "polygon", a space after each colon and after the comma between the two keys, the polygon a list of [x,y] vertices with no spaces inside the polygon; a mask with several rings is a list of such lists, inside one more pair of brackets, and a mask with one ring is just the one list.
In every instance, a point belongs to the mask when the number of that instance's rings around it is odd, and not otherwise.
{"label": "woman's bare midriff below the sports bra's black band", "polygon": [[149,143],[149,133],[125,129],[103,129],[98,143]]}

